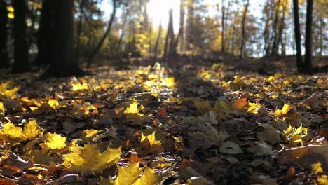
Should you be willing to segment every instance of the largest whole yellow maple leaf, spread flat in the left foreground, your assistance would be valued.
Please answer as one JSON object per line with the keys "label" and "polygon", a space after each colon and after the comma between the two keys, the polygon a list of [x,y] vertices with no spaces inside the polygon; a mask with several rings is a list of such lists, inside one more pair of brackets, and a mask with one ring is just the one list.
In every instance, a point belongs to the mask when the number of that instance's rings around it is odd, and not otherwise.
{"label": "largest whole yellow maple leaf, spread flat in the left foreground", "polygon": [[121,159],[120,155],[121,147],[100,153],[95,144],[88,143],[84,147],[77,147],[71,153],[64,154],[62,165],[82,174],[100,172],[117,163]]}

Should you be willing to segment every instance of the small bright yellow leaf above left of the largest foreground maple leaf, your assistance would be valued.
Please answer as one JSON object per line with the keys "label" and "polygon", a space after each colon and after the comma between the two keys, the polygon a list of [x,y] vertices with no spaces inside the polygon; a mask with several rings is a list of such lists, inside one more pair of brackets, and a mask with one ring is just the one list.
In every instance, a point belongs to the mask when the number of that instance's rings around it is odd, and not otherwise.
{"label": "small bright yellow leaf above left of the largest foreground maple leaf", "polygon": [[46,135],[43,135],[43,139],[44,143],[40,144],[43,149],[60,150],[66,147],[66,137],[62,137],[57,133],[52,134],[48,132]]}

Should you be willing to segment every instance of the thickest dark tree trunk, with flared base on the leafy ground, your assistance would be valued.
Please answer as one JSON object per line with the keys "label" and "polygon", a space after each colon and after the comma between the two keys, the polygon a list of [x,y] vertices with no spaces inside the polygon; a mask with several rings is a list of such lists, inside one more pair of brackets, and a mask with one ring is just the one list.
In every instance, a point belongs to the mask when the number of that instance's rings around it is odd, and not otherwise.
{"label": "thickest dark tree trunk, with flared base on the leafy ground", "polygon": [[41,78],[81,76],[85,73],[74,60],[73,0],[52,1],[53,44],[50,66]]}

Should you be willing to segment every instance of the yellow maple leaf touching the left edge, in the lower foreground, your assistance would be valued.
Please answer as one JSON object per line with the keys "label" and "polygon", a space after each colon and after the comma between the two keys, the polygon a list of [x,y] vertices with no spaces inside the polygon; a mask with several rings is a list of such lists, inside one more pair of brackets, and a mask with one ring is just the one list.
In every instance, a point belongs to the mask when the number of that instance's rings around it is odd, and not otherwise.
{"label": "yellow maple leaf touching the left edge, in the lower foreground", "polygon": [[31,120],[24,125],[24,128],[16,127],[13,123],[5,123],[4,128],[0,130],[0,139],[6,142],[23,142],[30,141],[43,134],[41,129],[36,123],[36,120]]}

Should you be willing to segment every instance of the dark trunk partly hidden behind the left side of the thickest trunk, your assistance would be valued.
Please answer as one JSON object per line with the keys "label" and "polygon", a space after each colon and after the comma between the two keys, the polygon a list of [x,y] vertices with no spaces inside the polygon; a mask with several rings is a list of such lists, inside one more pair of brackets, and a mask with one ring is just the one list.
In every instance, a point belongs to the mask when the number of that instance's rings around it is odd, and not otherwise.
{"label": "dark trunk partly hidden behind the left side of the thickest trunk", "polygon": [[[46,66],[50,62],[53,50],[53,9],[52,1],[44,0],[41,9],[40,27],[38,33],[38,57],[36,64]],[[48,42],[48,43],[47,43]]]}

